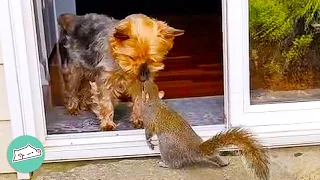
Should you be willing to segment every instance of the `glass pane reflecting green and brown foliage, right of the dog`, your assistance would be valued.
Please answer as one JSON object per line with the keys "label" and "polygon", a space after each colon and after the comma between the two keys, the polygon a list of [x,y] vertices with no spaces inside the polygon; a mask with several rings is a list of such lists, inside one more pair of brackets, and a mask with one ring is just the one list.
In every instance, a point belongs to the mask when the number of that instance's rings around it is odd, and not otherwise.
{"label": "glass pane reflecting green and brown foliage, right of the dog", "polygon": [[249,0],[251,104],[320,98],[320,1]]}

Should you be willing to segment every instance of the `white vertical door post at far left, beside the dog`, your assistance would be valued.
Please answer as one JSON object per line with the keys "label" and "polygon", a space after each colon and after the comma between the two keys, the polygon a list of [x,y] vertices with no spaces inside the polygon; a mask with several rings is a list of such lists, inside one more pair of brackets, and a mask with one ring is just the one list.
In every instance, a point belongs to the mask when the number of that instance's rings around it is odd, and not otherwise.
{"label": "white vertical door post at far left, beside the dog", "polygon": [[[33,10],[32,0],[0,1],[0,39],[13,138],[31,135],[44,142],[43,111],[36,111],[43,101]],[[30,177],[17,173],[18,179]]]}

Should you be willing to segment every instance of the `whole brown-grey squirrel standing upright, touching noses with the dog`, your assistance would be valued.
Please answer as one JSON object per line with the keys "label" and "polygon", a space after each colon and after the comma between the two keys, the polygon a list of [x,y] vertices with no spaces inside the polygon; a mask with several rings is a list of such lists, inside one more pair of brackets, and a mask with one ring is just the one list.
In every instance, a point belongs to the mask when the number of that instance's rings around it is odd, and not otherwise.
{"label": "whole brown-grey squirrel standing upright, touching noses with the dog", "polygon": [[189,123],[159,97],[158,86],[153,81],[145,81],[136,87],[141,88],[135,96],[143,99],[141,113],[150,149],[154,149],[151,138],[158,137],[160,167],[182,168],[202,161],[227,166],[229,163],[219,156],[218,148],[236,145],[256,176],[261,180],[269,179],[269,157],[249,131],[235,127],[203,141]]}

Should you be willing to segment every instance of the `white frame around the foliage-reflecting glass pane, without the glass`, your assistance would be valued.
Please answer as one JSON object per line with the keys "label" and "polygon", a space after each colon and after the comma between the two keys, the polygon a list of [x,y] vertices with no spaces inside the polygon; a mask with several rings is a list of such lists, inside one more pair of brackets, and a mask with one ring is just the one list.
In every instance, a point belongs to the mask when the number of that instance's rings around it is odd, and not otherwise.
{"label": "white frame around the foliage-reflecting glass pane, without the glass", "polygon": [[250,105],[248,3],[227,0],[231,126],[250,127],[269,145],[320,143],[320,101]]}

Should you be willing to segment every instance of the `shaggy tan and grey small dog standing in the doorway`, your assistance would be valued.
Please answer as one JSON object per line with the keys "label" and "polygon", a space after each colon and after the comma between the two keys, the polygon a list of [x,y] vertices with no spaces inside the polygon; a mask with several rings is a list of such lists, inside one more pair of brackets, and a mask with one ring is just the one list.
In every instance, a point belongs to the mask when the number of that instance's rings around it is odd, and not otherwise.
{"label": "shaggy tan and grey small dog standing in the doorway", "polygon": [[[70,114],[90,108],[102,130],[116,129],[113,117],[118,97],[130,96],[129,87],[135,81],[153,79],[164,68],[174,38],[184,34],[143,14],[122,20],[99,14],[63,14],[58,22],[60,43],[68,55],[63,71],[66,108]],[[94,82],[91,88],[89,81]],[[139,101],[133,99],[131,116],[137,128],[143,127]]]}

